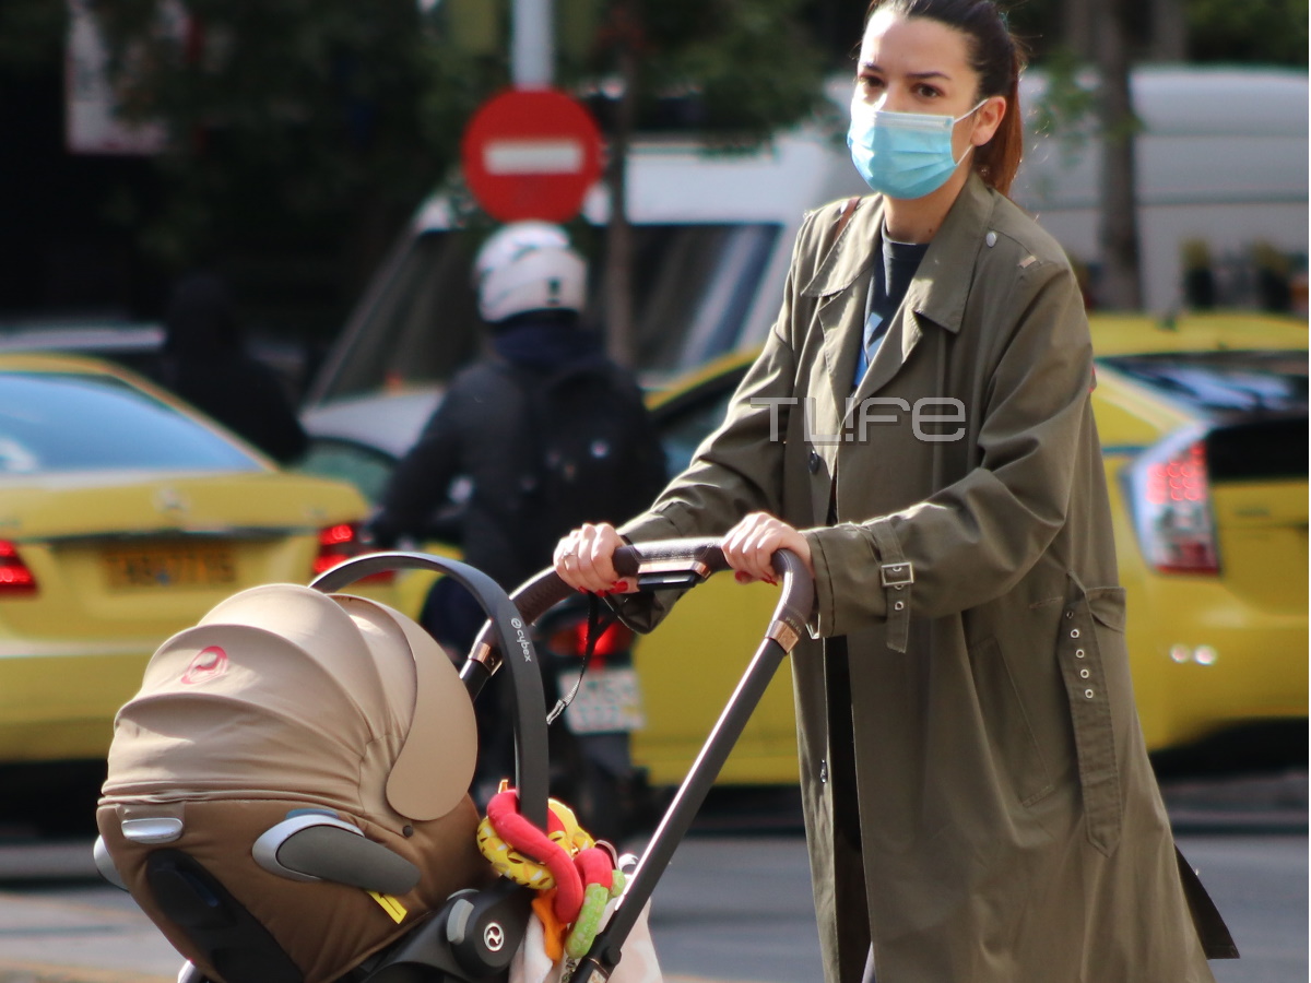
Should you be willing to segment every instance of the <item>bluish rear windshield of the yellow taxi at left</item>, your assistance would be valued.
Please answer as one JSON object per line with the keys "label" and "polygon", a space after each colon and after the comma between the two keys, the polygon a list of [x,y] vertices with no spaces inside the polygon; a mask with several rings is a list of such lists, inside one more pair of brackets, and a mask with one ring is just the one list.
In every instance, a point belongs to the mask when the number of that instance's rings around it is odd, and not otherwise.
{"label": "bluish rear windshield of the yellow taxi at left", "polygon": [[113,376],[0,372],[0,476],[262,469],[199,422]]}

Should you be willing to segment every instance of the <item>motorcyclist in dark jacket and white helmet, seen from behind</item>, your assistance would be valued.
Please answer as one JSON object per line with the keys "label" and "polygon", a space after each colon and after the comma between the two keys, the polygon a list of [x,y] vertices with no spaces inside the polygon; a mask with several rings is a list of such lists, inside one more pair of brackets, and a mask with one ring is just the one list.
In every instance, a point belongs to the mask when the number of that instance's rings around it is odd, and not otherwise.
{"label": "motorcyclist in dark jacket and white helmet, seen from behind", "polygon": [[[594,509],[615,518],[640,512],[663,486],[665,456],[636,380],[607,358],[600,333],[583,325],[587,267],[562,228],[543,222],[503,227],[480,249],[473,287],[492,351],[454,377],[396,467],[368,531],[382,548],[402,536],[430,539],[434,512],[460,499],[455,535],[464,560],[511,590],[551,564],[551,548],[576,524],[540,492],[551,478],[543,474],[543,444],[561,436],[549,430],[581,431],[594,422],[553,421],[541,409],[541,392],[599,384],[610,408],[591,415],[610,418],[611,426],[615,417],[627,421],[607,440],[614,444],[607,448],[611,468],[591,480],[589,495],[579,495],[590,497]],[[598,482],[610,488],[594,488]],[[598,492],[604,505],[597,505]],[[452,657],[463,657],[484,615],[467,591],[442,579],[420,621]],[[494,689],[497,682],[489,685]],[[486,781],[513,773],[505,705],[497,692],[479,700],[480,776]]]}

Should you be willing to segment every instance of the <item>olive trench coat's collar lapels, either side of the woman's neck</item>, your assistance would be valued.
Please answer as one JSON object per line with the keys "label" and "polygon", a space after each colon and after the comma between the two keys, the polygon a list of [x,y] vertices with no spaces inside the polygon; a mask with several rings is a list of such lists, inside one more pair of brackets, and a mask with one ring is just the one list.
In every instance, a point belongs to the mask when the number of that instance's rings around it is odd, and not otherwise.
{"label": "olive trench coat's collar lapels, either side of the woman's neck", "polygon": [[[881,195],[861,201],[863,207],[856,208],[818,273],[802,288],[804,296],[832,298],[848,290],[873,265],[878,256],[873,246],[880,241],[884,223],[882,202]],[[971,172],[906,291],[906,311],[952,333],[960,332],[973,279],[962,277],[961,271],[974,269],[994,204],[991,190]]]}

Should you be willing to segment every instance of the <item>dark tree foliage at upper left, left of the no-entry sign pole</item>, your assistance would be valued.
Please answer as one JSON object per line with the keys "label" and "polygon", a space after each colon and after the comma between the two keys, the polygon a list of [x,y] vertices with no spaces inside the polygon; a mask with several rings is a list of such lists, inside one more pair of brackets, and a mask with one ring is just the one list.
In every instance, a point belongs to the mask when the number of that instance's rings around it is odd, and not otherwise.
{"label": "dark tree foliage at upper left, left of the no-entry sign pole", "polygon": [[[182,26],[172,14],[185,12]],[[454,160],[479,59],[413,0],[97,0],[127,115],[164,121],[174,263],[252,235],[372,241]]]}

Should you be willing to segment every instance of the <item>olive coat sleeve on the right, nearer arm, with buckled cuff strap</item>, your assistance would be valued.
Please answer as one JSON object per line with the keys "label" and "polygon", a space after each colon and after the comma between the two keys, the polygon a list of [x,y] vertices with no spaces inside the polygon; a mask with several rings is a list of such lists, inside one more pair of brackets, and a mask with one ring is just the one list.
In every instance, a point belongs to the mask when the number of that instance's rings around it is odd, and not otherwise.
{"label": "olive coat sleeve on the right, nearer arm, with buckled cuff strap", "polygon": [[1021,273],[1008,309],[1020,315],[981,400],[978,467],[902,511],[805,532],[819,636],[886,619],[882,564],[910,564],[914,583],[897,600],[939,617],[1013,587],[1065,524],[1091,426],[1083,300],[1068,267],[1050,262]]}

